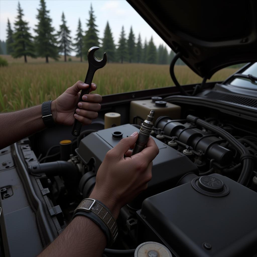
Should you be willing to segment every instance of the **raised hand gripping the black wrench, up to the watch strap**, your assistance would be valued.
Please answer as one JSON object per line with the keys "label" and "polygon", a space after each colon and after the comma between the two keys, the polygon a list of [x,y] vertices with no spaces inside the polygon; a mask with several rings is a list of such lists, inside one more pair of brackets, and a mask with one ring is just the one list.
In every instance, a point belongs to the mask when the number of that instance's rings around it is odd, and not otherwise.
{"label": "raised hand gripping the black wrench, up to the watch strap", "polygon": [[[97,118],[98,111],[101,109],[99,103],[102,102],[102,96],[98,94],[88,94],[82,97],[87,102],[80,102],[77,106],[80,90],[87,89],[89,85],[82,81],[77,81],[72,87],[69,87],[63,94],[51,103],[51,112],[55,123],[63,125],[72,125],[74,118],[83,124],[91,124],[92,120]],[[96,84],[92,83],[90,92],[96,90]],[[81,105],[81,106],[80,106]]]}

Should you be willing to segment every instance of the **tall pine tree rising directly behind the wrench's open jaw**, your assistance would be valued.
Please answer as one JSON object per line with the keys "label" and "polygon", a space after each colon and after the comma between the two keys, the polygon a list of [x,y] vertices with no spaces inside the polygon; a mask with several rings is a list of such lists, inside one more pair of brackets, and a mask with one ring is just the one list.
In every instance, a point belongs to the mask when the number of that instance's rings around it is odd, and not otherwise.
{"label": "tall pine tree rising directly behind the wrench's open jaw", "polygon": [[[87,52],[88,49],[90,49],[91,47],[98,47],[99,46],[99,38],[97,33],[99,32],[96,27],[97,25],[95,24],[95,15],[94,15],[94,11],[93,11],[93,7],[92,4],[90,6],[90,10],[89,10],[89,19],[87,22],[87,27],[88,30],[85,33],[85,38],[84,38],[84,49],[83,49],[83,54],[84,54],[84,58],[85,60],[87,60]],[[96,54],[100,54],[99,50],[96,52]]]}

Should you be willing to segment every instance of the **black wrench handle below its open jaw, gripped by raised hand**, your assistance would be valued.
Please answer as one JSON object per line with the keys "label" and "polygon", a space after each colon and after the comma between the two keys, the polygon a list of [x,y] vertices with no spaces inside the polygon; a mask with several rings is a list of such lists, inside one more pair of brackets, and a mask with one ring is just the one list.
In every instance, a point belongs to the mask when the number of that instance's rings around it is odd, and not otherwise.
{"label": "black wrench handle below its open jaw, gripped by raised hand", "polygon": [[[92,80],[93,80],[95,71],[96,71],[95,69],[90,69],[90,67],[88,67],[87,75],[86,75],[84,83],[88,84],[89,87],[87,89],[81,90],[78,103],[79,102],[86,102],[86,101],[82,100],[82,96],[89,94],[90,87],[91,87],[91,84],[92,84]],[[76,109],[79,108],[78,107],[78,103],[77,103],[77,106],[75,108],[74,114],[76,113]],[[79,136],[80,135],[80,131],[81,131],[81,127],[82,127],[82,123],[80,121],[78,121],[77,119],[75,119],[74,123],[73,123],[73,128],[72,128],[71,134],[74,135],[74,136]]]}

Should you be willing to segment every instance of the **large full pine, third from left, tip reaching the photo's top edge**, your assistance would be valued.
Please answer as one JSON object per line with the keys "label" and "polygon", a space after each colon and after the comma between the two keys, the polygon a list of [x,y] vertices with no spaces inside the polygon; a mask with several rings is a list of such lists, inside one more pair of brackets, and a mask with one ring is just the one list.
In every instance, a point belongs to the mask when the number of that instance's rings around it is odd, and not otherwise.
{"label": "large full pine, third from left, tip reaching the photo's top edge", "polygon": [[37,35],[35,36],[35,45],[37,55],[45,57],[45,61],[48,62],[48,58],[51,57],[54,60],[58,60],[58,47],[56,46],[56,36],[54,34],[54,28],[51,26],[52,19],[49,16],[49,11],[46,10],[46,4],[44,0],[40,0],[40,8],[38,10],[38,24],[34,30]]}

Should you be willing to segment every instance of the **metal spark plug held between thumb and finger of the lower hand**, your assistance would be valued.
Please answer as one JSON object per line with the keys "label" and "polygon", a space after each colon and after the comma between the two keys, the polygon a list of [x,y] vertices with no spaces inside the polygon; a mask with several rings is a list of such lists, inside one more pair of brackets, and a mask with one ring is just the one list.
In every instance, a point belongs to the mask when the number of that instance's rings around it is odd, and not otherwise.
{"label": "metal spark plug held between thumb and finger of the lower hand", "polygon": [[145,145],[148,142],[148,139],[153,129],[153,118],[154,118],[154,110],[151,110],[150,114],[147,115],[146,120],[144,120],[144,122],[140,127],[140,131],[138,132],[138,138],[131,155],[139,153],[145,148]]}

